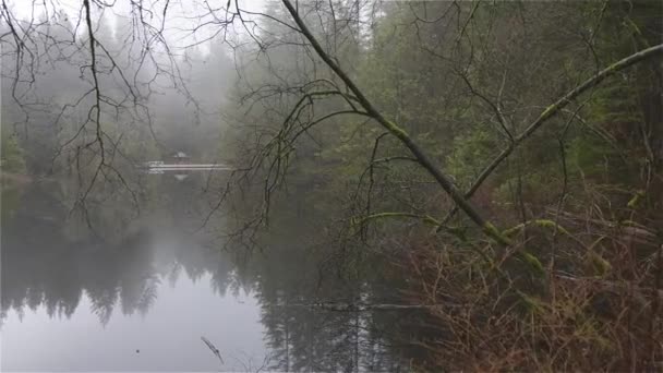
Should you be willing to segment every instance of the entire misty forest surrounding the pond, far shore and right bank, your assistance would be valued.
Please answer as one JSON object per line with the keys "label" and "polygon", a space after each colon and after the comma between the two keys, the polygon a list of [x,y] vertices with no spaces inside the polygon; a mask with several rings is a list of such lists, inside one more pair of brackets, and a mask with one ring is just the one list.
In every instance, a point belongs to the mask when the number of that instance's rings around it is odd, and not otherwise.
{"label": "entire misty forest surrounding the pond, far shore and right bank", "polygon": [[47,180],[62,234],[120,242],[178,188],[134,165],[185,152],[234,169],[217,249],[267,252],[237,284],[343,299],[265,308],[274,369],[394,369],[323,352],[397,305],[413,371],[663,368],[663,2],[64,3],[0,9],[3,219]]}

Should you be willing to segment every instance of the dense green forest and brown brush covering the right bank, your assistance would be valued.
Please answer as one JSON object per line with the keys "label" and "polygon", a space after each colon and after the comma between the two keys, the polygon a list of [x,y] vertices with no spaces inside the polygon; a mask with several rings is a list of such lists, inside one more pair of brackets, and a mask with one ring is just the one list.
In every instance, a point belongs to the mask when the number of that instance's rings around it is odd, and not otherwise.
{"label": "dense green forest and brown brush covering the right bank", "polygon": [[438,305],[423,370],[660,361],[661,2],[300,7],[226,109],[261,217],[282,191],[388,253]]}

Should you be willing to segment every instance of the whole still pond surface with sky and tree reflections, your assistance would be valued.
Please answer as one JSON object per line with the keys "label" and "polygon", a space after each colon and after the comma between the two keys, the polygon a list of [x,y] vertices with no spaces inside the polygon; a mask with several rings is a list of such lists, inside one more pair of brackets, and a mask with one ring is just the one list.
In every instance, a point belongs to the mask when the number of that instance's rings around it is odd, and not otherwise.
{"label": "whole still pond surface with sky and tree reflections", "polygon": [[301,222],[237,255],[210,233],[222,216],[196,229],[209,180],[149,178],[158,197],[137,217],[116,201],[76,220],[61,183],[3,189],[2,371],[405,369],[395,335],[413,315],[306,306],[370,301],[384,282],[321,275],[330,256]]}

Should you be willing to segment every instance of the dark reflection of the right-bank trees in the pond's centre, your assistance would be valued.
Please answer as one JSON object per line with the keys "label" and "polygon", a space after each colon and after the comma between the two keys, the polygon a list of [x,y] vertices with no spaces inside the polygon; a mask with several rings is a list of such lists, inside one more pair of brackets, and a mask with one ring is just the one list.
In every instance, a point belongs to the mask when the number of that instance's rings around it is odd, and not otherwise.
{"label": "dark reflection of the right-bank trees in the pond's centre", "polygon": [[[325,237],[313,214],[275,210],[272,233],[248,268],[261,304],[265,341],[270,349],[269,369],[276,371],[385,371],[405,370],[394,358],[394,345],[405,340],[403,312],[328,311],[320,302],[397,301],[397,284],[383,276],[386,264],[365,257],[352,268],[329,263],[336,245],[316,245]],[[310,212],[309,212],[310,213]],[[290,214],[290,215],[289,215]],[[302,218],[304,216],[305,218]],[[304,221],[305,220],[305,221]],[[346,270],[349,269],[349,270]],[[365,270],[369,269],[369,270]],[[411,312],[410,312],[411,313]],[[415,316],[411,313],[410,316]],[[409,320],[405,320],[409,322]]]}

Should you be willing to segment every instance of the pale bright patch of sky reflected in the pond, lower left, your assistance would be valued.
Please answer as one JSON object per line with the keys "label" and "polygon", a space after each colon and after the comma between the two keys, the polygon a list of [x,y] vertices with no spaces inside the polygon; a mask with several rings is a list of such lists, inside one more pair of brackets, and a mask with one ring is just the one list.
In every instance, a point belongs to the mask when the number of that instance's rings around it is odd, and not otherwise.
{"label": "pale bright patch of sky reflected in the pond, lower left", "polygon": [[[172,286],[160,284],[148,312],[118,312],[106,324],[98,322],[86,294],[67,317],[52,317],[45,305],[23,315],[11,311],[2,330],[2,370],[244,371],[261,366],[266,354],[255,299],[215,296],[209,281],[205,275],[198,281],[181,278]],[[224,363],[201,336],[224,351]]]}

